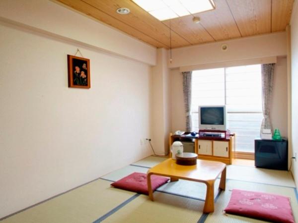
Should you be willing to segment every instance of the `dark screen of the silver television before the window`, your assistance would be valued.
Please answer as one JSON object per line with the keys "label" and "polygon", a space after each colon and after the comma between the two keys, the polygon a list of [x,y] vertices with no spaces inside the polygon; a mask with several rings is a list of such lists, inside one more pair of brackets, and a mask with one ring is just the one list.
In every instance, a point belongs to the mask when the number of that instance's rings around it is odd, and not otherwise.
{"label": "dark screen of the silver television before the window", "polygon": [[223,107],[205,107],[201,108],[202,125],[223,125],[224,108]]}

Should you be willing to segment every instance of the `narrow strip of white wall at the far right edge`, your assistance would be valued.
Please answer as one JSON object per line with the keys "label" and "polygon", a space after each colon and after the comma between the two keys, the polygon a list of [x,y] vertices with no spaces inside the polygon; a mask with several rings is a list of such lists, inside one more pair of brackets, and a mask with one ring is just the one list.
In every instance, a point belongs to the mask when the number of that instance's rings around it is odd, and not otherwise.
{"label": "narrow strip of white wall at the far right edge", "polygon": [[[295,1],[291,17],[291,79],[292,79],[292,172],[298,185],[298,3]],[[291,148],[291,147],[290,147]]]}

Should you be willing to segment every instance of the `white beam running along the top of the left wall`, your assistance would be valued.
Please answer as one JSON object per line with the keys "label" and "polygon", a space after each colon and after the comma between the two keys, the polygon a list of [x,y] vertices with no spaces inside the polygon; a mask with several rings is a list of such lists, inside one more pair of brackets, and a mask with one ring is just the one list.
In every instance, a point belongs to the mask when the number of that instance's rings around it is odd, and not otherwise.
{"label": "white beam running along the top of the left wall", "polygon": [[0,0],[0,20],[149,65],[156,64],[156,48],[61,5],[50,0]]}

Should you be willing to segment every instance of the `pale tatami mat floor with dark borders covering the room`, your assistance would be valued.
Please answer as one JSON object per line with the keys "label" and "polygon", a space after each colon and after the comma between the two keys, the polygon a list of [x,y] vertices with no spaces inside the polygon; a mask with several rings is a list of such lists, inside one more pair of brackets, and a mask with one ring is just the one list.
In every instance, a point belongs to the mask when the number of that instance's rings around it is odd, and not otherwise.
{"label": "pale tatami mat floor with dark borders covering the room", "polygon": [[[215,212],[203,214],[206,186],[179,180],[169,182],[148,196],[110,186],[132,172],[146,173],[166,158],[148,157],[100,179],[78,187],[9,218],[1,223],[262,223],[263,221],[224,215],[234,188],[275,193],[291,198],[298,221],[298,194],[290,172],[230,165],[226,190],[215,193]],[[218,188],[219,180],[216,181]]]}

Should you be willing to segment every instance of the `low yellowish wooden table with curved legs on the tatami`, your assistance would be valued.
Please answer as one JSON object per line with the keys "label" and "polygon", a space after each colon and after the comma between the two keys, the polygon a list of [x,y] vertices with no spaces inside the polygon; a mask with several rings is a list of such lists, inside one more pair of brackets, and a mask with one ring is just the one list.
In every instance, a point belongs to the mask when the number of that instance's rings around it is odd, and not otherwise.
{"label": "low yellowish wooden table with curved legs on the tatami", "polygon": [[197,160],[197,165],[182,166],[177,165],[175,160],[172,160],[171,158],[167,159],[155,167],[150,168],[147,172],[149,198],[151,201],[154,201],[151,188],[151,175],[167,176],[171,178],[171,181],[184,179],[202,182],[207,185],[207,193],[203,212],[214,212],[214,182],[222,173],[219,188],[225,190],[225,166],[226,165],[221,162],[206,160]]}

